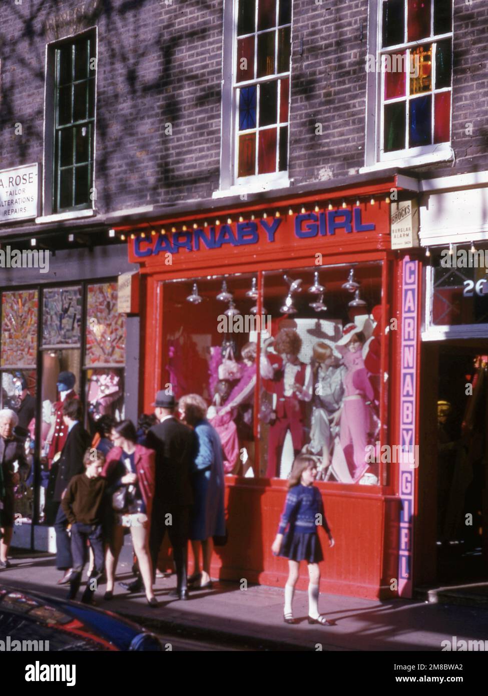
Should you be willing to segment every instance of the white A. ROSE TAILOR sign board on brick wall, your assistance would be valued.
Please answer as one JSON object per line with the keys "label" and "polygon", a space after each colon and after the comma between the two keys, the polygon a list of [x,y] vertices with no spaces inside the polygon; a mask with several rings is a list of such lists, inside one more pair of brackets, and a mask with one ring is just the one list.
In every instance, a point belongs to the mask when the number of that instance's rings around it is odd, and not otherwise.
{"label": "white A. ROSE TAILOR sign board on brick wall", "polygon": [[38,216],[38,164],[0,171],[0,223]]}

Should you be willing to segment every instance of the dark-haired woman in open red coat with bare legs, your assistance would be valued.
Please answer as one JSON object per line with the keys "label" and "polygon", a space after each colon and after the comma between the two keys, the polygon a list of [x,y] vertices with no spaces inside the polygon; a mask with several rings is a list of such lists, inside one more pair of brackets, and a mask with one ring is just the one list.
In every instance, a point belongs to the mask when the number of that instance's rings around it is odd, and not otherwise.
{"label": "dark-haired woman in open red coat with bare legs", "polygon": [[102,476],[107,479],[111,498],[116,491],[124,491],[120,497],[125,499],[123,509],[113,510],[115,519],[107,548],[107,592],[104,599],[112,599],[124,528],[129,528],[144,582],[145,596],[149,606],[156,607],[149,553],[149,525],[155,491],[155,452],[136,445],[136,428],[132,420],[123,420],[113,427],[111,438],[114,446],[107,454]]}

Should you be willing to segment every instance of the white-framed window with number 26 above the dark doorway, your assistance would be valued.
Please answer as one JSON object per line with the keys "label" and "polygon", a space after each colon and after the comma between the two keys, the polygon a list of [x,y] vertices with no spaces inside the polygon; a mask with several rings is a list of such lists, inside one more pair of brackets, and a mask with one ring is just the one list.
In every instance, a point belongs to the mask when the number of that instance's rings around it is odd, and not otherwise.
{"label": "white-framed window with number 26 above the dark doorway", "polygon": [[[470,258],[471,257],[471,258]],[[485,336],[488,330],[487,251],[455,247],[431,257],[425,269],[424,339]],[[471,267],[470,267],[471,266]]]}

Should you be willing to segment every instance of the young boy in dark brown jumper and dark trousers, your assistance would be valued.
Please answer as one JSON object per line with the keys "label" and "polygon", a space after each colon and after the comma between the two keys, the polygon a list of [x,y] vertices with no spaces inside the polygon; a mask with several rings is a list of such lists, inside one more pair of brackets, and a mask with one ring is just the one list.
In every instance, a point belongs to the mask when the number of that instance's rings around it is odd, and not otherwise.
{"label": "young boy in dark brown jumper and dark trousers", "polygon": [[71,524],[73,571],[68,599],[77,596],[81,584],[81,575],[86,564],[87,541],[95,556],[93,573],[88,578],[86,590],[81,597],[81,601],[86,604],[93,603],[96,580],[102,576],[104,569],[102,519],[107,486],[107,481],[101,477],[104,462],[102,452],[93,448],[86,450],[83,458],[84,473],[72,477],[61,500],[61,507]]}

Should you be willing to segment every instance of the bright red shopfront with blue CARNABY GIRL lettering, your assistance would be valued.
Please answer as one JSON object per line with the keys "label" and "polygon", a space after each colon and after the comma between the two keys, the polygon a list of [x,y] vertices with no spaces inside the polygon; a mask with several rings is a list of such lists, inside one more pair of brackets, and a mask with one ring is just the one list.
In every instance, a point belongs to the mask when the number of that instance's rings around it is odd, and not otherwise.
{"label": "bright red shopfront with blue CARNABY GIRL lettering", "polygon": [[[152,411],[158,389],[177,398],[198,393],[210,404],[223,341],[233,345],[236,361],[244,345],[255,344],[248,408],[253,444],[239,436],[233,469],[243,471],[243,460],[249,470],[246,476],[226,476],[228,543],[215,548],[215,577],[283,586],[288,572],[287,562],[274,557],[270,547],[297,442],[286,433],[273,455],[275,475],[269,477],[276,397],[261,374],[260,356],[274,355],[267,339],[276,339],[283,329],[288,336],[299,335],[298,358],[312,385],[302,404],[302,444],[312,448],[317,343],[333,351],[344,326],[355,324],[365,341],[362,355],[369,352],[374,392],[368,425],[362,426],[370,442],[368,468],[353,475],[346,466],[347,448],[336,457],[347,420],[339,418],[329,433],[333,454],[323,443],[314,452],[317,461],[328,464],[317,486],[336,539],[330,549],[320,530],[321,590],[381,599],[411,596],[417,465],[380,454],[384,445],[394,450],[393,445],[418,441],[419,269],[416,260],[391,251],[393,188],[401,196],[392,177],[361,188],[242,202],[117,228],[128,237],[129,260],[141,264],[140,411]],[[313,294],[320,286],[322,292]],[[234,315],[226,315],[231,308]],[[302,574],[299,587],[305,589],[306,569]]]}

